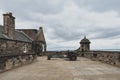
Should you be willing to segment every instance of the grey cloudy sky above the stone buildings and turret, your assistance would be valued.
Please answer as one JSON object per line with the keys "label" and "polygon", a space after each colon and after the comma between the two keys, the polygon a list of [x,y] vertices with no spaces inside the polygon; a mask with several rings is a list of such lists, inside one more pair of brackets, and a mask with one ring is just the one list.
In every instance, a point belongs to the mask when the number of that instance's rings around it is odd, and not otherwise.
{"label": "grey cloudy sky above the stone buildings and turret", "polygon": [[1,0],[16,28],[43,26],[48,50],[77,49],[86,35],[91,49],[120,49],[120,0]]}

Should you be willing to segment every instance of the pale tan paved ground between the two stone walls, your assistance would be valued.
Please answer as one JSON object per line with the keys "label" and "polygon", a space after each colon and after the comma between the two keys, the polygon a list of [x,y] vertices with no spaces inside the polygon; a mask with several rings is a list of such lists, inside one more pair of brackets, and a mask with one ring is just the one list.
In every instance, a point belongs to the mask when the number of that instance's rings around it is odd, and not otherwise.
{"label": "pale tan paved ground between the two stone walls", "polygon": [[86,58],[39,57],[35,63],[1,73],[0,80],[120,80],[120,68]]}

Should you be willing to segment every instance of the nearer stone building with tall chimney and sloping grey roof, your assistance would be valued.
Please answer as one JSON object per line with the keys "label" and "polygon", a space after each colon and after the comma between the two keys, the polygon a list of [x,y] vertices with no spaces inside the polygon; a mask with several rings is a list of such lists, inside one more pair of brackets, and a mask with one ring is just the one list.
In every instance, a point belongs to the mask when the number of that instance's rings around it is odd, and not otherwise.
{"label": "nearer stone building with tall chimney and sloping grey roof", "polygon": [[0,26],[0,48],[17,49],[16,51],[27,53],[30,50],[29,48],[32,48],[29,44],[32,39],[24,32],[15,30],[15,17],[12,13],[3,14],[3,23],[4,25]]}

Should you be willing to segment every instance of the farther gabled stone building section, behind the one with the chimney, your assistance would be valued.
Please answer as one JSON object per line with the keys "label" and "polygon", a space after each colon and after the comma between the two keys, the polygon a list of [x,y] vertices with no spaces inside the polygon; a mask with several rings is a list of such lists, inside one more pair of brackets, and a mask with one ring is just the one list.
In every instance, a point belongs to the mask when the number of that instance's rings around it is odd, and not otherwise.
{"label": "farther gabled stone building section, behind the one with the chimney", "polygon": [[17,29],[17,30],[23,31],[32,39],[32,41],[35,44],[35,51],[38,55],[44,55],[44,52],[46,52],[47,45],[42,27],[39,27],[39,30],[37,29]]}

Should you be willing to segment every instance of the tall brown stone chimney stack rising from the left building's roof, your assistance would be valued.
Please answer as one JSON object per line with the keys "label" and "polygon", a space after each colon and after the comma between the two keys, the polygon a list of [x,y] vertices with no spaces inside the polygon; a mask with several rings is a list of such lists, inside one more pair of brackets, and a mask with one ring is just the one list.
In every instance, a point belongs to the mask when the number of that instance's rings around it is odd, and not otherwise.
{"label": "tall brown stone chimney stack rising from the left building's roof", "polygon": [[13,39],[15,34],[15,17],[12,16],[12,13],[3,14],[3,23],[4,23],[4,34],[7,35],[10,39]]}

